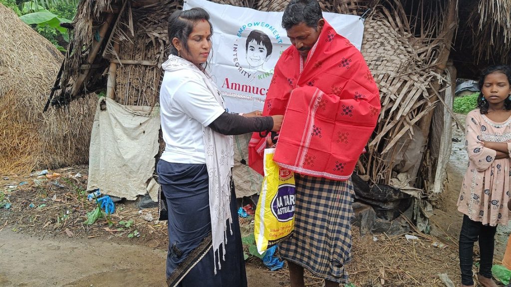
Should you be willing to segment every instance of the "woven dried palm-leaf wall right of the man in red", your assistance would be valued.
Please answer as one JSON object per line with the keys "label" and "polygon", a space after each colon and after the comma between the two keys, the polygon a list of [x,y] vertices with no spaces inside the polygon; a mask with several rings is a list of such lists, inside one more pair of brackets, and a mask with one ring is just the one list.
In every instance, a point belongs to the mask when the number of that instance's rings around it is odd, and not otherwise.
{"label": "woven dried palm-leaf wall right of the man in red", "polygon": [[[398,21],[388,21],[384,13],[375,14],[365,22],[362,43],[362,54],[380,89],[382,103],[375,134],[364,155],[366,175],[378,183],[390,182],[396,176],[392,172],[416,176],[418,170],[394,167],[401,163],[396,159],[406,152],[410,141],[418,140],[414,133],[421,119],[434,108],[431,84],[439,77],[428,65],[434,60],[428,55],[435,49],[434,44],[400,33],[399,26],[406,25]],[[416,156],[421,158],[422,154]]]}

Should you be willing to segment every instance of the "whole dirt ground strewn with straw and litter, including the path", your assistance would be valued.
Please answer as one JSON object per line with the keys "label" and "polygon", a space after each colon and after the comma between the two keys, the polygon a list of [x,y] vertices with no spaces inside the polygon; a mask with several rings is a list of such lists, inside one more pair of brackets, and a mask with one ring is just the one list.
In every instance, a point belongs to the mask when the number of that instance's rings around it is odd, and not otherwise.
{"label": "whole dirt ground strewn with straw and litter, including the path", "polygon": [[[459,285],[456,200],[467,156],[462,133],[455,130],[453,137],[460,141],[453,142],[447,188],[431,218],[432,234],[409,232],[416,239],[408,240],[405,234],[361,237],[354,227],[353,260],[346,269],[356,287],[446,286],[440,274]],[[0,177],[0,204],[10,204],[8,209],[0,205],[0,286],[165,286],[167,225],[157,220],[157,209],[138,210],[120,202],[109,218],[84,224],[95,208],[85,198],[86,181],[86,165],[47,176]],[[241,222],[243,229],[250,220]],[[496,263],[506,239],[497,239]],[[286,266],[271,272],[251,257],[246,268],[250,287],[289,286]],[[310,273],[306,281],[307,286],[323,285]]]}

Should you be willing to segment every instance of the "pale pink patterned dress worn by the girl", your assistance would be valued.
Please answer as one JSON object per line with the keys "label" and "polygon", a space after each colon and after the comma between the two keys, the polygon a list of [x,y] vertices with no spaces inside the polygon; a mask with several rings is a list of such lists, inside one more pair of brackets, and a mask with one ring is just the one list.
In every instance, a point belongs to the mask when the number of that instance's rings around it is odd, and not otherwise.
{"label": "pale pink patterned dress worn by the girl", "polygon": [[507,142],[511,154],[511,117],[496,123],[475,109],[467,115],[466,127],[469,167],[461,185],[458,210],[484,225],[507,224],[511,159],[495,159],[496,151],[483,147],[481,140]]}

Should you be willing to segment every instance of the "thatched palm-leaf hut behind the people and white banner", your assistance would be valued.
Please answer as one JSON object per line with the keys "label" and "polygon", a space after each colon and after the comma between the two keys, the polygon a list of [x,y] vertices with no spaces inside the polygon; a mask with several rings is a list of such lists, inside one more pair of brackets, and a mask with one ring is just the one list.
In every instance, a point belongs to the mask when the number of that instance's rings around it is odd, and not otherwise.
{"label": "thatched palm-leaf hut behind the people and white banner", "polygon": [[[261,11],[281,11],[288,3],[214,2]],[[320,0],[320,5],[324,11],[355,15],[371,9],[362,53],[380,88],[383,109],[357,173],[373,183],[440,192],[444,159],[450,153],[447,114],[456,67],[462,77],[474,78],[477,73],[472,71],[481,65],[509,60],[511,3]],[[65,106],[106,87],[107,97],[118,103],[154,106],[159,64],[167,56],[166,19],[181,7],[180,1],[172,0],[82,0],[73,21],[62,89],[52,104]]]}

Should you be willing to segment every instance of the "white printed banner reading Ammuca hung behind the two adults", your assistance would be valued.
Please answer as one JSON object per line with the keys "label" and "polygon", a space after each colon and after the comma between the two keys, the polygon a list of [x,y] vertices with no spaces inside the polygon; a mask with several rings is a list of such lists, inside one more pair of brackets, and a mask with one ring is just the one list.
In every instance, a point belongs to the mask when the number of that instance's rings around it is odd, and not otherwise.
{"label": "white printed banner reading Ammuca hung behind the two adults", "polygon": [[[291,45],[281,26],[284,12],[261,12],[205,0],[184,2],[184,10],[194,7],[211,15],[213,51],[207,70],[228,110],[263,110],[273,68]],[[364,33],[361,17],[327,12],[323,12],[323,17],[360,50]]]}

